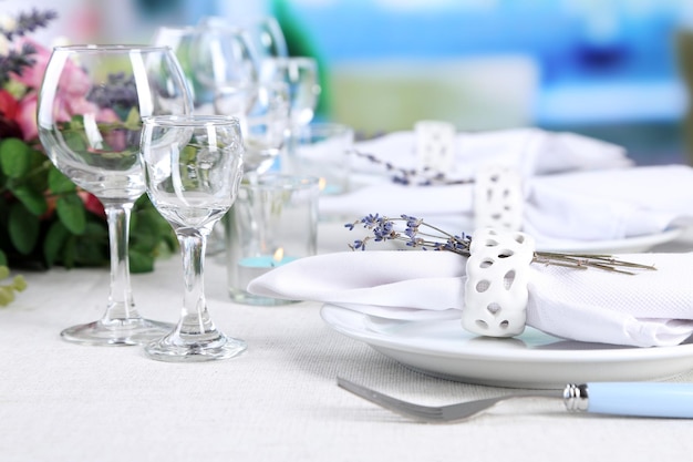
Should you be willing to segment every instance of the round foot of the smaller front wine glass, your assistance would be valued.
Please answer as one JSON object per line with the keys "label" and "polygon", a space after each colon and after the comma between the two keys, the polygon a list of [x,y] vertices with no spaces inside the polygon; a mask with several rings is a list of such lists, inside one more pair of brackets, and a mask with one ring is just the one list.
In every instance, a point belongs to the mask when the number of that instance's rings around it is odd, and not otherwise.
{"label": "round foot of the smaller front wine glass", "polygon": [[145,345],[147,357],[166,362],[201,362],[234,358],[244,352],[248,346],[244,340],[227,337],[218,332],[213,339],[200,335],[200,340],[183,339],[177,332],[163,339]]}

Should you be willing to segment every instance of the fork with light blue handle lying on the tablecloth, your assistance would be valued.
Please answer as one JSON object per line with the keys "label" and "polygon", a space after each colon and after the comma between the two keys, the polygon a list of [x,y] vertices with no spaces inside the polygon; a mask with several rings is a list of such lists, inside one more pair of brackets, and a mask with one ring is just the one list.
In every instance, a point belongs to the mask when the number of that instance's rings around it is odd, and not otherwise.
{"label": "fork with light blue handle lying on the tablecloth", "polygon": [[534,390],[447,405],[403,401],[338,377],[343,389],[393,412],[425,422],[469,419],[500,401],[515,398],[560,398],[571,412],[613,415],[693,418],[693,383],[591,382],[568,384],[563,390]]}

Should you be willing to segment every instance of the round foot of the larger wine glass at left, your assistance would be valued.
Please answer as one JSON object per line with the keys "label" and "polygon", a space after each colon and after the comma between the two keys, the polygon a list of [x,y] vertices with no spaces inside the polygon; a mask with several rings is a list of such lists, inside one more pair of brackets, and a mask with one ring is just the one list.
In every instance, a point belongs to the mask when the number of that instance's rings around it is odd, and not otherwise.
{"label": "round foot of the larger wine glass at left", "polygon": [[174,325],[143,318],[116,319],[108,322],[97,320],[69,327],[60,332],[63,340],[81,345],[125,347],[148,343],[164,337]]}

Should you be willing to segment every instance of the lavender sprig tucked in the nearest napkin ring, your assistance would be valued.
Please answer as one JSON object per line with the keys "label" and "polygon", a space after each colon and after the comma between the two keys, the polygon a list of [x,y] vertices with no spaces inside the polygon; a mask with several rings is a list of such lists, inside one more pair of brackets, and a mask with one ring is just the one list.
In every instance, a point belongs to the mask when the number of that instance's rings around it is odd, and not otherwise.
{"label": "lavender sprig tucked in the nearest napkin ring", "polygon": [[[399,229],[395,223],[403,223]],[[407,247],[421,248],[423,250],[447,250],[468,257],[472,236],[462,233],[461,235],[449,234],[437,226],[426,223],[424,219],[410,215],[400,215],[399,218],[387,218],[379,214],[366,215],[353,223],[348,223],[344,227],[353,230],[358,225],[371,230],[372,235],[362,239],[356,239],[349,244],[352,250],[365,250],[370,240],[399,240],[404,242]],[[403,228],[403,229],[402,229]],[[632,269],[656,269],[652,265],[641,265],[613,258],[611,255],[589,255],[589,254],[559,254],[552,251],[535,251],[532,263],[541,265],[566,266],[576,269],[596,268],[606,271],[634,275]],[[628,268],[628,269],[624,269]]]}

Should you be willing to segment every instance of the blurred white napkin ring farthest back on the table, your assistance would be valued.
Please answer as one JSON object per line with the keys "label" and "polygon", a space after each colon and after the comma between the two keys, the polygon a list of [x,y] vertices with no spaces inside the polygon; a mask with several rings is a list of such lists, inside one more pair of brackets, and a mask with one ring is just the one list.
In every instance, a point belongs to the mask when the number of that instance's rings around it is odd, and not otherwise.
{"label": "blurred white napkin ring farthest back on the table", "polygon": [[418,170],[449,172],[455,163],[455,125],[448,122],[420,121],[414,124]]}

